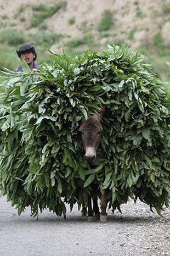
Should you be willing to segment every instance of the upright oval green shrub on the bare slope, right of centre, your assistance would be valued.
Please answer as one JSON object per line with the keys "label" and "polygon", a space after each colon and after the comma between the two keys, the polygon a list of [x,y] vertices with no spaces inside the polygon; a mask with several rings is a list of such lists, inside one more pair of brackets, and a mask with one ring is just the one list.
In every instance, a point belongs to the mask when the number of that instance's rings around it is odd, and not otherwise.
{"label": "upright oval green shrub on the bare slope, right of centre", "polygon": [[99,21],[99,24],[98,24],[98,31],[102,32],[102,31],[109,30],[113,25],[114,25],[114,21],[112,19],[112,13],[110,12],[110,10],[104,10],[101,16],[101,20]]}

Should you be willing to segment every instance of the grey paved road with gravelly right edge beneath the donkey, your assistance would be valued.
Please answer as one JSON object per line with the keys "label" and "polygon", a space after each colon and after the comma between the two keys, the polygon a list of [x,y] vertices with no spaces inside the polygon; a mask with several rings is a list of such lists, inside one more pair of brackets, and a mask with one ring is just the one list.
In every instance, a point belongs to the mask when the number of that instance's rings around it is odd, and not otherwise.
{"label": "grey paved road with gravelly right edge beneath the donkey", "polygon": [[163,218],[132,201],[122,212],[109,211],[106,224],[87,222],[77,207],[67,219],[44,211],[39,220],[27,209],[20,217],[0,198],[0,255],[170,255],[170,209]]}

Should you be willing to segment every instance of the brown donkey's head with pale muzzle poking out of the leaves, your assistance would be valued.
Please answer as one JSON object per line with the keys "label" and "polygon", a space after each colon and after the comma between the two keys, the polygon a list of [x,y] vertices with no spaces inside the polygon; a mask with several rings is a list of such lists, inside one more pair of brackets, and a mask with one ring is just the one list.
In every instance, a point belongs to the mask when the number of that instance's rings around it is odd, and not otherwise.
{"label": "brown donkey's head with pale muzzle poking out of the leaves", "polygon": [[83,148],[86,152],[84,158],[92,163],[96,158],[96,152],[100,144],[100,132],[103,130],[100,121],[105,113],[105,108],[99,114],[83,120],[79,131],[82,133]]}

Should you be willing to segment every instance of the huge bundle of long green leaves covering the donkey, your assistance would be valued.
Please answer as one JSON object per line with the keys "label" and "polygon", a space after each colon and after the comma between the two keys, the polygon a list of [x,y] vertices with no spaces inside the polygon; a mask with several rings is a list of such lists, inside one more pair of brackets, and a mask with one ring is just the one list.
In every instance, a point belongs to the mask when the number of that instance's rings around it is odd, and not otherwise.
{"label": "huge bundle of long green leaves covering the donkey", "polygon": [[[4,69],[1,86],[0,190],[18,213],[57,215],[87,205],[92,183],[109,206],[131,197],[161,213],[170,198],[169,96],[138,52],[108,46],[102,54],[52,54],[31,72]],[[91,169],[78,132],[102,108],[103,127]]]}

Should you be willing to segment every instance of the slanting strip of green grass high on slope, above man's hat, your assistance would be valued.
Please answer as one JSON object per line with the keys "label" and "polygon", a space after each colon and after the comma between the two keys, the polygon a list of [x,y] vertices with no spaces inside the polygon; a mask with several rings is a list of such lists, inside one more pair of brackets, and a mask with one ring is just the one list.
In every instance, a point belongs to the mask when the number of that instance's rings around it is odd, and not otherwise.
{"label": "slanting strip of green grass high on slope, above man's hat", "polygon": [[31,18],[31,21],[30,21],[31,27],[39,26],[45,19],[50,18],[56,12],[58,12],[61,8],[66,7],[66,5],[67,5],[66,2],[59,2],[50,7],[47,7],[44,4],[39,4],[39,5],[36,5],[35,7],[32,7],[33,11],[35,11],[36,14],[33,14]]}

